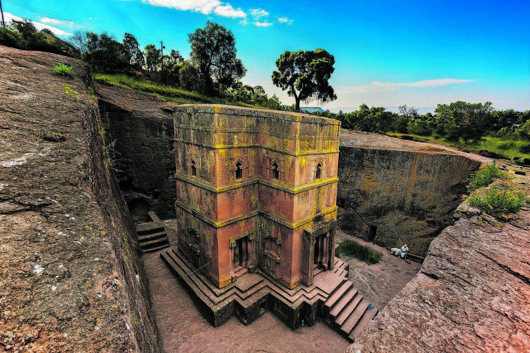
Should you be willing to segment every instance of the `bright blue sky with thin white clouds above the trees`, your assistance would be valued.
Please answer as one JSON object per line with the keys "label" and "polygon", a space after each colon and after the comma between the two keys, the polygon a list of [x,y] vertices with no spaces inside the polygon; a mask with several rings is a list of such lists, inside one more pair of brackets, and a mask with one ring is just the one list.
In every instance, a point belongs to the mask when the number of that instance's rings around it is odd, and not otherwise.
{"label": "bright blue sky with thin white clouds above the trees", "polygon": [[335,56],[337,100],[302,105],[356,110],[360,104],[435,107],[464,100],[530,109],[530,1],[498,0],[1,0],[6,19],[28,18],[67,39],[75,30],[125,32],[142,47],[164,41],[189,57],[188,34],[206,21],[235,35],[248,69],[284,104],[271,81],[286,50]]}

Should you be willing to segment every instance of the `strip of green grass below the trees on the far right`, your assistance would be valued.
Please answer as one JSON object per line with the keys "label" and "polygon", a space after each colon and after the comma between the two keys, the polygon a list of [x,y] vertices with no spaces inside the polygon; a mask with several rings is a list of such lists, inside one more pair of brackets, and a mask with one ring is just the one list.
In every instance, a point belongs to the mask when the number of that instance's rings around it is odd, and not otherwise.
{"label": "strip of green grass below the trees on the far right", "polygon": [[[404,134],[398,132],[389,132],[389,136],[402,137]],[[513,159],[513,157],[530,158],[530,143],[525,140],[512,140],[502,137],[484,137],[484,141],[477,143],[464,143],[462,139],[460,141],[446,141],[444,138],[437,138],[432,136],[418,136],[412,134],[406,134],[412,136],[414,141],[437,143],[438,145],[444,145],[446,147],[456,148],[459,150],[468,150],[471,153],[478,154],[480,150],[487,150],[498,154],[504,159]]]}

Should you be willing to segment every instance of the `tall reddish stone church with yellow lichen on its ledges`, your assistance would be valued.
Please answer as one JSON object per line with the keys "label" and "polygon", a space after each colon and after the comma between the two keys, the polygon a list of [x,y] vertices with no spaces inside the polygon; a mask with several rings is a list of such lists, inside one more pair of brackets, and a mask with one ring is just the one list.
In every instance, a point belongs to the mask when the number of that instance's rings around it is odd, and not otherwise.
{"label": "tall reddish stone church with yellow lichen on its ledges", "polygon": [[218,288],[259,269],[286,288],[333,268],[340,122],[173,108],[178,247]]}

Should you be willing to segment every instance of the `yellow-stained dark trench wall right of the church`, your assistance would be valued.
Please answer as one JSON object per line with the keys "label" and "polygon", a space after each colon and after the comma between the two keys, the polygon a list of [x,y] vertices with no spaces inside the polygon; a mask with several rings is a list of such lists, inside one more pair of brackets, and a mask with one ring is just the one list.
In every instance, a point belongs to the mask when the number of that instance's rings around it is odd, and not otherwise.
{"label": "yellow-stained dark trench wall right of the church", "polygon": [[424,256],[453,223],[464,181],[480,162],[460,154],[340,147],[339,226],[386,248]]}

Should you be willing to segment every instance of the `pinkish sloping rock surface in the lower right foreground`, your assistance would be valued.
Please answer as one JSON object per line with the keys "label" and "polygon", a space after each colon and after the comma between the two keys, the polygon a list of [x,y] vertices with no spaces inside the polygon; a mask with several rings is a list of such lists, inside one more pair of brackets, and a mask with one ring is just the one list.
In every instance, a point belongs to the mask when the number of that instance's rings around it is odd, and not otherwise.
{"label": "pinkish sloping rock surface in the lower right foreground", "polygon": [[530,351],[530,210],[508,223],[457,215],[348,352]]}

